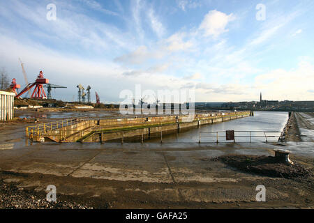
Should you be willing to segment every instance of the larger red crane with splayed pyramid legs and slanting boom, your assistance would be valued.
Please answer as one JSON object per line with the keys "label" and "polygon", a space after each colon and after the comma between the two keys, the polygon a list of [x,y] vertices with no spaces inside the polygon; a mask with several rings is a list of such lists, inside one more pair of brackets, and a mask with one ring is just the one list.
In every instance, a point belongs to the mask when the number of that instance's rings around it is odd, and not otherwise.
{"label": "larger red crane with splayed pyramid legs and slanting boom", "polygon": [[43,71],[40,70],[39,75],[36,79],[36,82],[27,84],[27,86],[15,97],[19,98],[23,93],[29,91],[33,86],[35,86],[35,89],[33,90],[33,93],[31,94],[31,98],[40,98],[45,99],[47,98],[47,95],[43,89],[43,84],[48,84],[49,79],[46,79],[43,77]]}

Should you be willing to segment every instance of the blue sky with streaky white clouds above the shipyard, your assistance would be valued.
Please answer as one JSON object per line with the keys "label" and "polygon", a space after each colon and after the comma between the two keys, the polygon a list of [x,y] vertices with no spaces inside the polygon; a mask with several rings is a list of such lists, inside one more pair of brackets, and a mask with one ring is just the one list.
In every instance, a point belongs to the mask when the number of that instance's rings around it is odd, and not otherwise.
{"label": "blue sky with streaky white clouds above the shipyard", "polygon": [[[56,7],[47,7],[49,4]],[[193,89],[195,102],[314,100],[314,1],[0,1],[0,68],[52,97]],[[55,20],[51,16],[56,15]]]}

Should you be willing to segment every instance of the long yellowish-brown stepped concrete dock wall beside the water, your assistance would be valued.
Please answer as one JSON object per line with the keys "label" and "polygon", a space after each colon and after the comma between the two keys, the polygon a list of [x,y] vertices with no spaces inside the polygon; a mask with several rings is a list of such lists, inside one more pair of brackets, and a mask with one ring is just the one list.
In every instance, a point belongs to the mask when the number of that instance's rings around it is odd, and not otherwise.
{"label": "long yellowish-brown stepped concrete dock wall beside the water", "polygon": [[174,132],[183,128],[206,125],[249,116],[250,112],[225,112],[188,116],[154,116],[140,118],[94,119],[68,125],[47,133],[53,141],[107,141],[122,137]]}

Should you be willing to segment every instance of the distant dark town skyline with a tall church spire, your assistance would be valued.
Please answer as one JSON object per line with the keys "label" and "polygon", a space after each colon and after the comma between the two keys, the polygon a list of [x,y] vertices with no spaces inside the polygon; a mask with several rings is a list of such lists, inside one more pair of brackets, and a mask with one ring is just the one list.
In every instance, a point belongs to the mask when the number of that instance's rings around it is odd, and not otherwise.
{"label": "distant dark town skyline with a tall church spire", "polygon": [[314,101],[292,101],[292,100],[262,100],[251,102],[195,102],[195,109],[237,109],[255,111],[278,111],[278,112],[314,112]]}

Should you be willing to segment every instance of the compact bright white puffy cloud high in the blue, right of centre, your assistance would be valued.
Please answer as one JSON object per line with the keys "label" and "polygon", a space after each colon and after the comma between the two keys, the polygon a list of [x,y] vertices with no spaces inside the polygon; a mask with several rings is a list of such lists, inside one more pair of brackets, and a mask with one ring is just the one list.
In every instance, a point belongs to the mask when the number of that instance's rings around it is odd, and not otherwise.
{"label": "compact bright white puffy cloud high in the blue, right of centre", "polygon": [[205,15],[204,20],[200,24],[200,30],[204,31],[204,36],[218,37],[221,33],[225,33],[225,27],[229,22],[234,20],[235,17],[231,13],[227,15],[217,10],[211,10]]}

